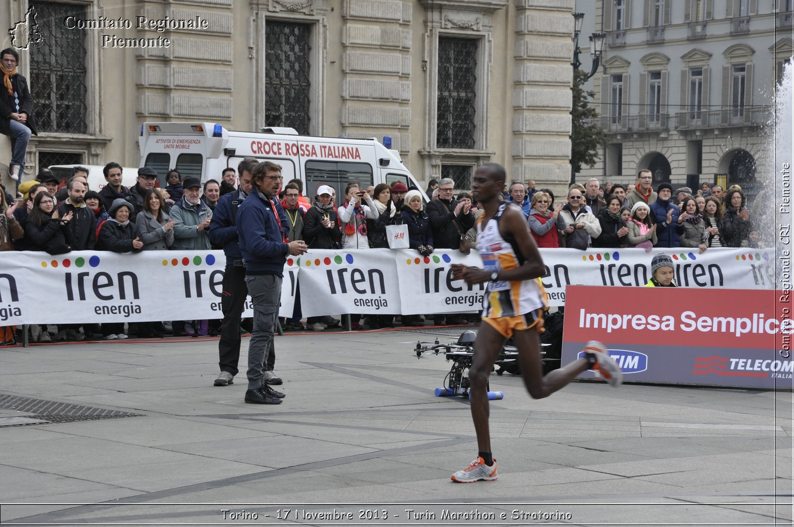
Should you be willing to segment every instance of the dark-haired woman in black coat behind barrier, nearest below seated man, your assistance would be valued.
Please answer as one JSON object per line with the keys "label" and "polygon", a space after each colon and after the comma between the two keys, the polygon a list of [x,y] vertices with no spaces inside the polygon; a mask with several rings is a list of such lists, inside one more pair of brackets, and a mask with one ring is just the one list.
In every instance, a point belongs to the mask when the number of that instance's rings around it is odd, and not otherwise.
{"label": "dark-haired woman in black coat behind barrier, nearest below seated man", "polygon": [[64,217],[58,216],[52,194],[46,190],[36,194],[33,209],[25,223],[26,248],[29,251],[46,251],[49,254],[64,254],[71,251],[72,213]]}

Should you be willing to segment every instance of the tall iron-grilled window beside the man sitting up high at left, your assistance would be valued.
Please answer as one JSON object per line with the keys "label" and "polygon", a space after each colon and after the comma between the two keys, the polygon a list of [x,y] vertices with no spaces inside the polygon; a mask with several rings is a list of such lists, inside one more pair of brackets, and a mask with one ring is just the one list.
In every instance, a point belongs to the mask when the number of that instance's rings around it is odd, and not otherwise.
{"label": "tall iron-grilled window beside the man sitting up high at left", "polygon": [[87,133],[85,31],[67,29],[66,17],[87,18],[85,6],[30,2],[44,42],[30,50],[30,93],[39,132]]}

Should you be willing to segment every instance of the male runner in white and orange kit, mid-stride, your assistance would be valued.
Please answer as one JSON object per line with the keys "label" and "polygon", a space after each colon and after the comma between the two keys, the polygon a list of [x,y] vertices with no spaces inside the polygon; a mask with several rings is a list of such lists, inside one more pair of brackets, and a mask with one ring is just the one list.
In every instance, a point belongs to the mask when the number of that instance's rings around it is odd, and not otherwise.
{"label": "male runner in white and orange kit, mid-stride", "polygon": [[548,397],[588,369],[599,371],[613,387],[622,382],[618,364],[607,355],[607,348],[595,340],[584,348],[587,353],[584,358],[543,376],[538,340],[538,333],[543,330],[543,310],[547,306],[540,282],[544,273],[543,260],[524,214],[517,206],[502,201],[505,179],[504,167],[496,163],[485,163],[474,173],[472,199],[482,203],[485,211],[477,222],[477,250],[484,270],[452,265],[455,279],[469,284],[488,282],[483,321],[468,371],[472,420],[480,452],[472,464],[452,475],[452,480],[458,483],[492,481],[498,477],[496,460],[491,454],[486,387],[505,339],[513,337],[515,341],[524,385],[534,399]]}

